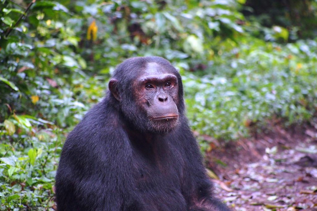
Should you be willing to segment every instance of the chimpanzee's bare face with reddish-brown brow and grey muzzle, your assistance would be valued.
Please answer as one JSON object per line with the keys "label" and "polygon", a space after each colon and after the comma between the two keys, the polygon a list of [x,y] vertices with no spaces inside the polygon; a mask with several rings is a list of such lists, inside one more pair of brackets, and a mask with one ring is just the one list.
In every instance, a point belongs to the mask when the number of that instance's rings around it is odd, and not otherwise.
{"label": "chimpanzee's bare face with reddish-brown brow and grey muzzle", "polygon": [[134,97],[147,118],[147,129],[167,133],[178,124],[178,80],[157,63],[147,63],[134,82]]}

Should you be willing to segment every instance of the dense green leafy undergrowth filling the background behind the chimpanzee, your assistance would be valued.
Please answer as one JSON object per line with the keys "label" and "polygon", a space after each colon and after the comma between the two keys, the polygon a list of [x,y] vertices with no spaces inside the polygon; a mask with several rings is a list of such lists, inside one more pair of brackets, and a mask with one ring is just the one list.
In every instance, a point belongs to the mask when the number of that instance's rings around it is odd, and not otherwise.
{"label": "dense green leafy undergrowth filling the background behind the chimpanzee", "polygon": [[[316,32],[263,26],[240,12],[249,9],[243,3],[36,1],[26,11],[0,0],[0,209],[54,208],[67,133],[131,56],[162,56],[180,70],[199,134],[230,141],[271,118],[312,120]],[[316,3],[311,8],[315,14]],[[200,141],[204,150],[208,142]]]}

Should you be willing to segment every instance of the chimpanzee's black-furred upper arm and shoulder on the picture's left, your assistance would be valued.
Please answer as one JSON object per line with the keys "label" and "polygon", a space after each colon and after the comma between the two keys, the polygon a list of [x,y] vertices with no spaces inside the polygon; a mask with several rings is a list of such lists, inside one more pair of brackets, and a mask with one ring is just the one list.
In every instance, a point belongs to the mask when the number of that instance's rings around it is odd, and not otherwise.
{"label": "chimpanzee's black-furred upper arm and shoulder on the picture's left", "polygon": [[87,113],[64,144],[55,183],[59,211],[138,208],[127,137],[115,118],[102,119],[99,107]]}

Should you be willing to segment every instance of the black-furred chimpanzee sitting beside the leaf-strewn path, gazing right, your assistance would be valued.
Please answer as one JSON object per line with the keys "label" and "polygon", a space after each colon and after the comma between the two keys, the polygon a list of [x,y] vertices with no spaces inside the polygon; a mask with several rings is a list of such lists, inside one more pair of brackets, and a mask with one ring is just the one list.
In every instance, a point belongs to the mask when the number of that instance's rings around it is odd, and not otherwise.
{"label": "black-furred chimpanzee sitting beside the leaf-strewn path, gazing right", "polygon": [[106,97],[69,133],[59,211],[229,211],[213,195],[184,115],[178,71],[161,57],[117,66]]}

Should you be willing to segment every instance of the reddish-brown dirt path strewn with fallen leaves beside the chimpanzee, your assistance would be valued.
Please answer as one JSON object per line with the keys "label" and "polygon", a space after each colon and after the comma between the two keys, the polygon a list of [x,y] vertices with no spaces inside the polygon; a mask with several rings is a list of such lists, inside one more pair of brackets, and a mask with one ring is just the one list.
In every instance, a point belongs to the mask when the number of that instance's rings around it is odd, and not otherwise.
{"label": "reddish-brown dirt path strewn with fallen leaves beside the chimpanzee", "polygon": [[217,196],[232,210],[317,210],[317,127],[254,133],[206,154]]}

